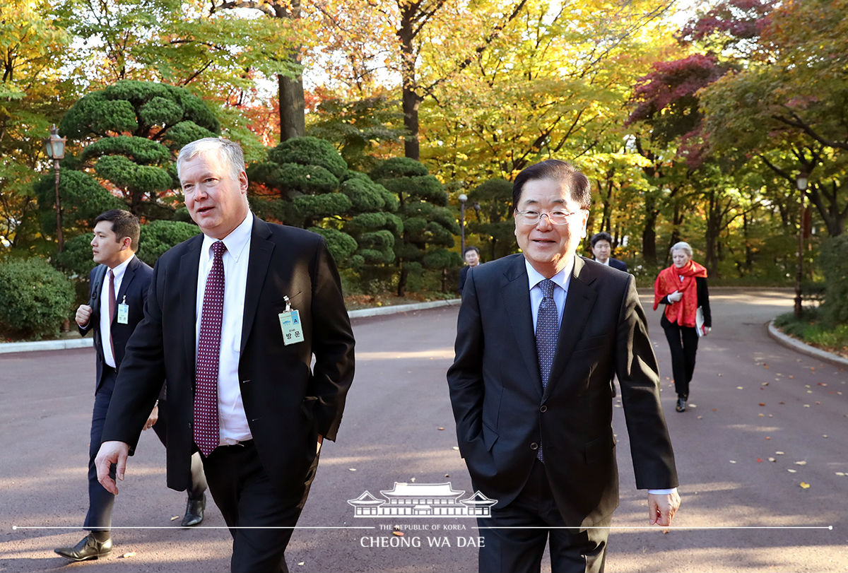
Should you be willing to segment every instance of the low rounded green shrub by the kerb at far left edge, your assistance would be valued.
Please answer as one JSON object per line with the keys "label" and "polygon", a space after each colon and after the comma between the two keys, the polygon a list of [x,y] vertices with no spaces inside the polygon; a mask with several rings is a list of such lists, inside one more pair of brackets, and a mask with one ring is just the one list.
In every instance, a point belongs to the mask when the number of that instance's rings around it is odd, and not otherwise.
{"label": "low rounded green shrub by the kerb at far left edge", "polygon": [[74,286],[43,259],[0,264],[0,325],[18,337],[38,340],[59,335],[70,316]]}

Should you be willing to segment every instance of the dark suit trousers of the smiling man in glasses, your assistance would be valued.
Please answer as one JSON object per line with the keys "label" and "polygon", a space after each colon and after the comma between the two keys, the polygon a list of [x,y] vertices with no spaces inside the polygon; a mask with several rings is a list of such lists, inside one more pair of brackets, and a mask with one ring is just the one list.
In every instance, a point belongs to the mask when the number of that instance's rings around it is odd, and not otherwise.
{"label": "dark suit trousers of the smiling man in glasses", "polygon": [[538,573],[549,538],[553,573],[604,570],[609,520],[583,531],[556,529],[564,528],[566,522],[538,459],[533,460],[533,470],[518,497],[504,508],[495,505],[491,517],[479,518],[477,525],[485,539],[479,553],[480,573]]}

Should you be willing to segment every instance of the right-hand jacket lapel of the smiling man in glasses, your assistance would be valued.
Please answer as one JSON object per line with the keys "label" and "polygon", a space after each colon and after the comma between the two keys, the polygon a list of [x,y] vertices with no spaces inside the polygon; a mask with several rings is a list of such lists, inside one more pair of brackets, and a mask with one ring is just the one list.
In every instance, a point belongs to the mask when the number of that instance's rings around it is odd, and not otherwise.
{"label": "right-hand jacket lapel of the smiling man in glasses", "polygon": [[589,315],[592,314],[595,299],[598,297],[598,293],[590,287],[594,278],[594,274],[583,263],[583,259],[575,257],[572,278],[568,283],[566,308],[562,311],[560,336],[556,341],[554,364],[550,369],[548,387],[544,392],[545,398],[550,394],[551,387],[561,379],[566,364],[571,359],[574,346],[583,336],[583,329],[589,321]]}

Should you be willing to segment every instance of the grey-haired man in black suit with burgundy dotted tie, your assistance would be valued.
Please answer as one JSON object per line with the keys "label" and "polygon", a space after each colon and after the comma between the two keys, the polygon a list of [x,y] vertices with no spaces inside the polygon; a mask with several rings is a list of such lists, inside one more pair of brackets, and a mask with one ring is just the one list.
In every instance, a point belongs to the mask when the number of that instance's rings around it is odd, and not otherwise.
{"label": "grey-haired man in black suit with burgundy dotted tie", "polygon": [[[354,376],[354,337],[321,236],[250,212],[242,149],[222,138],[177,158],[202,235],[162,255],[127,346],[98,453],[98,477],[126,457],[167,379],[168,486],[199,450],[233,537],[233,571],[287,570],[323,438],[335,439]],[[312,364],[313,357],[315,359]]]}

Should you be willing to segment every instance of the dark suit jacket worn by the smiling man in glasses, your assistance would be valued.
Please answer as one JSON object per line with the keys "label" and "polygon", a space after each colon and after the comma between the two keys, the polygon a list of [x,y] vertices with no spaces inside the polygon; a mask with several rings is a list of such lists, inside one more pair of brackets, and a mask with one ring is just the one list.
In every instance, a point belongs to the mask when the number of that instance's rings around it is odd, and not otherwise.
{"label": "dark suit jacket worn by the smiling man in glasses", "polygon": [[660,379],[632,275],[575,259],[550,381],[538,371],[521,254],[469,273],[448,371],[460,453],[471,481],[500,505],[521,492],[538,442],[568,525],[618,505],[610,380],[618,376],[638,488],[677,487]]}

